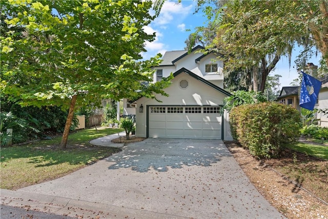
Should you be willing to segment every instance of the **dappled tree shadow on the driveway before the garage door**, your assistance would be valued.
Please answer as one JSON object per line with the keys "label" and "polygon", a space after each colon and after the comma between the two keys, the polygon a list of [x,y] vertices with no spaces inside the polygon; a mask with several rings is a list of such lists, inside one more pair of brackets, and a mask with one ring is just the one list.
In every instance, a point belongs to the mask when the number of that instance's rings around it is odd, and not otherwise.
{"label": "dappled tree shadow on the driveway before the garage door", "polygon": [[231,156],[220,140],[190,140],[172,138],[147,138],[130,143],[118,154],[108,158],[114,162],[109,169],[130,168],[138,172],[154,169],[165,172],[182,166],[210,166],[222,156]]}

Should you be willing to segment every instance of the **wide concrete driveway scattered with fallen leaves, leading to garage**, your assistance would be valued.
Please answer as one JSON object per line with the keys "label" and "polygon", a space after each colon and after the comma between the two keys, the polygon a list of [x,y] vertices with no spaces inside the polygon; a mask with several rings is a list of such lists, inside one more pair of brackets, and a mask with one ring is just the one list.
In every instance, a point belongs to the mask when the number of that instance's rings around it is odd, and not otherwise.
{"label": "wide concrete driveway scattered with fallen leaves, leading to garage", "polygon": [[108,218],[283,217],[219,140],[148,138],[67,176],[19,191],[101,206]]}

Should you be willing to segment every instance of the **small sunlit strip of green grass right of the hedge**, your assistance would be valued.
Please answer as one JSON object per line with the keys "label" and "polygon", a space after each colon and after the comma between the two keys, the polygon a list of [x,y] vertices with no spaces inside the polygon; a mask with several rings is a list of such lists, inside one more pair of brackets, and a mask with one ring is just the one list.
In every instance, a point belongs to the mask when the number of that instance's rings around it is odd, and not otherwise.
{"label": "small sunlit strip of green grass right of the hedge", "polygon": [[287,147],[310,156],[328,160],[328,146],[296,143],[294,145],[288,145]]}

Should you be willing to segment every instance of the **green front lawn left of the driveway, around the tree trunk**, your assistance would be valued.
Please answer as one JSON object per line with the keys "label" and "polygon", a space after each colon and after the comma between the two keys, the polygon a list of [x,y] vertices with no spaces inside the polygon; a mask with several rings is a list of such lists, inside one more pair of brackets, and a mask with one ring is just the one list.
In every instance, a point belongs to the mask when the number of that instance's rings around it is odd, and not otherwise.
{"label": "green front lawn left of the driveway, around the tree trunk", "polygon": [[79,130],[69,135],[66,149],[61,136],[22,146],[1,148],[1,188],[18,189],[66,175],[110,156],[117,148],[93,146],[89,141],[122,129]]}

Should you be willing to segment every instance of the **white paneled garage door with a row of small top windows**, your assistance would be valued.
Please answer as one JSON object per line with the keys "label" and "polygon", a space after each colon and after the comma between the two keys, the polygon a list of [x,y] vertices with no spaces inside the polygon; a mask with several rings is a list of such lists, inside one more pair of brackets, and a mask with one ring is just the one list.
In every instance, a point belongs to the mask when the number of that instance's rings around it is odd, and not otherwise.
{"label": "white paneled garage door with a row of small top windows", "polygon": [[149,107],[149,137],[222,139],[220,107]]}

